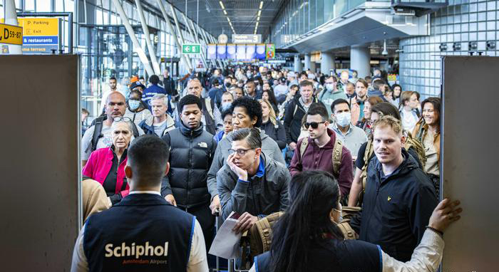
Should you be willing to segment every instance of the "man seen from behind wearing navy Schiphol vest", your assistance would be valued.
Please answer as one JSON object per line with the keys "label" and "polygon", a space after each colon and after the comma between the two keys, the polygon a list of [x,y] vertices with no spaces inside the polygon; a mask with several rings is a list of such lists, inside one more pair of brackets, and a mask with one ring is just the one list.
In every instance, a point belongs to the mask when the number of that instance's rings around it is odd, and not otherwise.
{"label": "man seen from behind wearing navy Schiphol vest", "polygon": [[132,142],[125,167],[130,194],[88,218],[71,271],[208,271],[199,222],[160,195],[169,150],[153,135]]}

